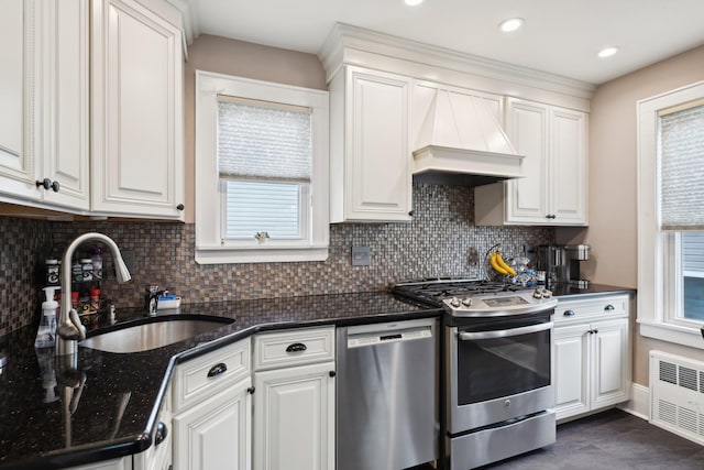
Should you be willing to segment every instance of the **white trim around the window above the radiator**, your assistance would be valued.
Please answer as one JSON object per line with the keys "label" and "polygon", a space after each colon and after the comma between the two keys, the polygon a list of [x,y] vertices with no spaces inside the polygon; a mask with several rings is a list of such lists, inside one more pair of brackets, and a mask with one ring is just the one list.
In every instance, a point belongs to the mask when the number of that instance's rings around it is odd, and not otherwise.
{"label": "white trim around the window above the radiator", "polygon": [[[704,81],[638,101],[638,324],[645,337],[704,349],[698,326],[670,321],[675,299],[667,280],[679,272],[660,231],[658,112],[704,97]],[[666,259],[667,258],[667,259]]]}

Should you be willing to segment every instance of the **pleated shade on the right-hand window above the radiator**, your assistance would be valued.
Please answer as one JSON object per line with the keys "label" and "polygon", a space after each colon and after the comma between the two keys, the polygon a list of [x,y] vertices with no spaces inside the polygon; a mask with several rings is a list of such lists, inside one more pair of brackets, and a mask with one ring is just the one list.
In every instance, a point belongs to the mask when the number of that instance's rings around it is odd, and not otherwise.
{"label": "pleated shade on the right-hand window above the radiator", "polygon": [[704,105],[660,116],[660,228],[704,230]]}

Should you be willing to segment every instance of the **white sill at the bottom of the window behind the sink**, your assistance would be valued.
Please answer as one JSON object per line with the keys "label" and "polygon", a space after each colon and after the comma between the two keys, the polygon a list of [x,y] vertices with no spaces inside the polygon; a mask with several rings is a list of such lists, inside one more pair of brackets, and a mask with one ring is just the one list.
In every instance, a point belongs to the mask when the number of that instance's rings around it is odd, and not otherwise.
{"label": "white sill at the bottom of the window behind the sink", "polygon": [[196,248],[198,264],[326,261],[328,247]]}

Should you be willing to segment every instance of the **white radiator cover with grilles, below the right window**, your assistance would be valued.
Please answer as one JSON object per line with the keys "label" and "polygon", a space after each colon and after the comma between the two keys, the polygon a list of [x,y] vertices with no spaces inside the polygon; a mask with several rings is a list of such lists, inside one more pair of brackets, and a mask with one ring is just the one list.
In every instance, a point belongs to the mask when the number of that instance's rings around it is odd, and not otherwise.
{"label": "white radiator cover with grilles, below the right window", "polygon": [[704,445],[704,362],[650,351],[650,423]]}

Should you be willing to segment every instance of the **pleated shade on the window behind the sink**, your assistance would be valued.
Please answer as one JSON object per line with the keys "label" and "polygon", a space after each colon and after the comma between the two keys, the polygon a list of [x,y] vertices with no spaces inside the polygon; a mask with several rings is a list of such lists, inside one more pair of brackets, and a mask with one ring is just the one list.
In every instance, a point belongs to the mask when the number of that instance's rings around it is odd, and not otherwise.
{"label": "pleated shade on the window behind the sink", "polygon": [[310,109],[218,96],[220,177],[310,183]]}

